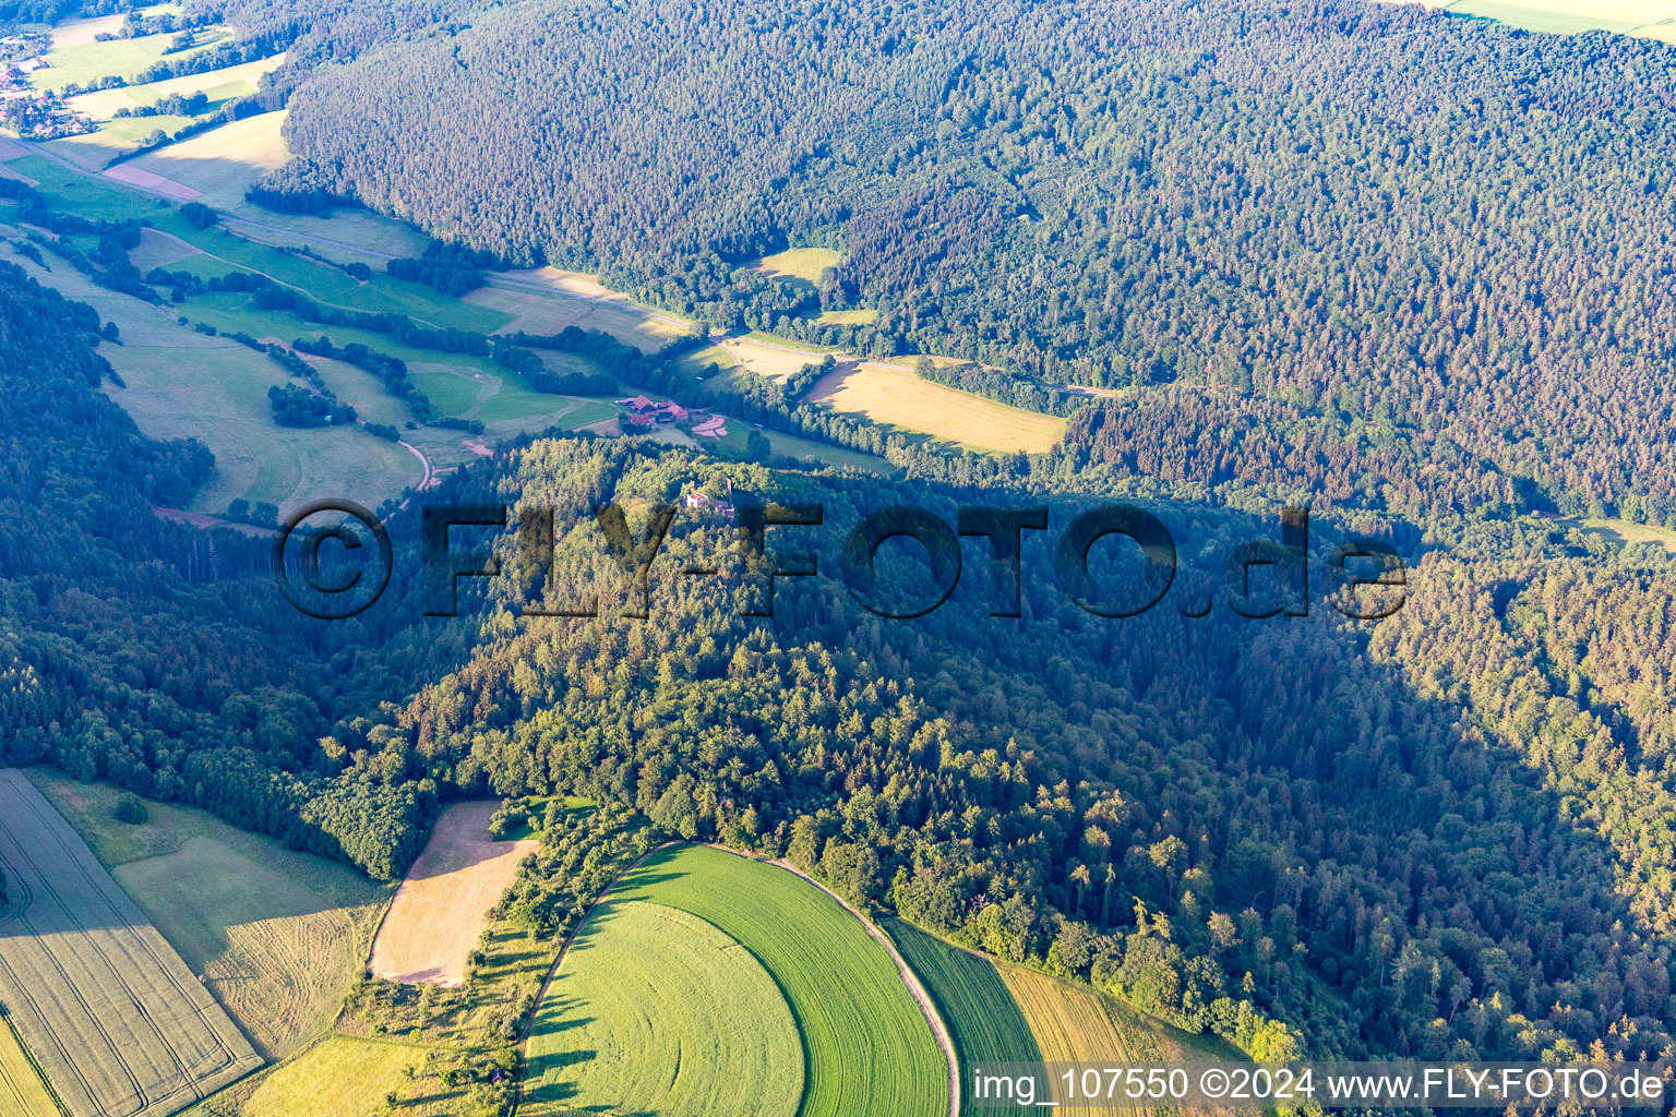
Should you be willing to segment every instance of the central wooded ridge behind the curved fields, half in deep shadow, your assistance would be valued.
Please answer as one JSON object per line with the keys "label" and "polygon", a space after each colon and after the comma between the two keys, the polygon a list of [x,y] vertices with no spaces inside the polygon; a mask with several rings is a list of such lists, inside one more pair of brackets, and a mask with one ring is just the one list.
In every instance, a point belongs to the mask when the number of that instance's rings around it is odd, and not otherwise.
{"label": "central wooded ridge behind the curved fields, half in deep shadow", "polygon": [[[1607,588],[1664,608],[1639,573],[1562,559],[1522,529],[1529,566],[1498,589],[1456,589],[1477,576],[1431,556],[1413,589],[1428,605],[1366,633],[1319,601],[1309,620],[1188,620],[1166,603],[1110,621],[1073,606],[1027,541],[1017,621],[984,616],[975,571],[917,621],[880,620],[833,579],[783,581],[774,620],[753,621],[732,533],[689,517],[654,571],[650,620],[515,620],[593,593],[613,613],[622,576],[587,509],[612,497],[639,526],[712,469],[538,440],[451,482],[446,499],[555,507],[556,578],[543,588],[508,551],[479,653],[375,727],[362,765],[620,802],[667,832],[788,856],[855,901],[1259,1055],[1671,1042],[1668,831],[1653,819],[1676,804],[1654,790],[1663,747],[1634,728],[1668,707],[1626,678],[1636,668],[1575,661],[1569,643]],[[836,546],[858,507],[898,499],[954,514],[937,486],[729,472],[736,492],[825,502],[828,534],[781,548]],[[1272,533],[1160,512],[1205,561]],[[679,574],[709,563],[727,576]],[[1507,673],[1468,682],[1456,665],[1483,655]],[[1572,656],[1570,682],[1544,675],[1552,655]],[[573,916],[531,888],[528,918]]]}

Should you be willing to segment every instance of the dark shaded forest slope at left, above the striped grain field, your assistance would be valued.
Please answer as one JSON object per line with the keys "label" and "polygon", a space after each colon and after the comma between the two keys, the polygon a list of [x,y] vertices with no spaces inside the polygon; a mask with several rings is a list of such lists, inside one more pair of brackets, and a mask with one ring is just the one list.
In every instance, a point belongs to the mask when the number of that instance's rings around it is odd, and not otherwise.
{"label": "dark shaded forest slope at left, above the striped grain field", "polygon": [[0,762],[49,760],[399,874],[431,795],[320,757],[340,700],[327,633],[280,601],[266,539],[153,512],[213,462],[142,437],[99,392],[101,327],[0,263]]}

